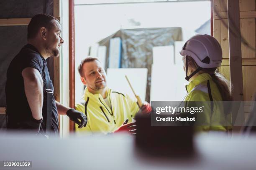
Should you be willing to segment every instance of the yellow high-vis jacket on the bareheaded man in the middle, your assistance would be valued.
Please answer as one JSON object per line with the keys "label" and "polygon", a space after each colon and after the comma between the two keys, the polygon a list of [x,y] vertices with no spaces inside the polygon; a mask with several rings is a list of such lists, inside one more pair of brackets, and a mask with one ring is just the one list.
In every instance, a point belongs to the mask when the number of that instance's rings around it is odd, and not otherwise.
{"label": "yellow high-vis jacket on the bareheaded man in the middle", "polygon": [[90,133],[112,133],[124,122],[132,122],[132,118],[138,112],[139,107],[135,100],[128,95],[107,89],[111,107],[109,107],[102,95],[92,94],[87,88],[79,103],[75,105],[76,110],[87,116],[87,125],[79,129],[76,125],[76,132]]}

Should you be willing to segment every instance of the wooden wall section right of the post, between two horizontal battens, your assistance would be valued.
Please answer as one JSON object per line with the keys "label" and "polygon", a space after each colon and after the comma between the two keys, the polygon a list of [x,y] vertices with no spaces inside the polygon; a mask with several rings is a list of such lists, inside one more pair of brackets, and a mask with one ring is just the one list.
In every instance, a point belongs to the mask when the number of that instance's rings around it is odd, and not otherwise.
{"label": "wooden wall section right of the post, between two horizontal battens", "polygon": [[[248,42],[248,44],[255,48],[255,18],[243,18],[240,20],[241,23],[241,35]],[[255,51],[249,49],[241,43],[242,48],[242,58],[255,58]]]}

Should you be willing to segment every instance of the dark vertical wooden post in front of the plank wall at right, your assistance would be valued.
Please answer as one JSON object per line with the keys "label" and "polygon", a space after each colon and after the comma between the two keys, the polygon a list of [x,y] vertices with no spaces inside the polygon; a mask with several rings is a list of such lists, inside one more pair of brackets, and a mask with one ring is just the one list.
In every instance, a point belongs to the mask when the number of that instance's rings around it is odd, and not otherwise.
{"label": "dark vertical wooden post in front of the plank wall at right", "polygon": [[[234,35],[231,29],[236,28]],[[234,30],[234,29],[233,29]],[[243,101],[243,71],[241,52],[241,32],[239,0],[228,0],[228,39],[229,39],[229,62],[230,62],[230,82],[233,85],[231,90],[232,100]],[[232,108],[232,128],[240,130],[244,123],[244,112],[238,112],[239,108]],[[244,110],[241,108],[241,110]]]}

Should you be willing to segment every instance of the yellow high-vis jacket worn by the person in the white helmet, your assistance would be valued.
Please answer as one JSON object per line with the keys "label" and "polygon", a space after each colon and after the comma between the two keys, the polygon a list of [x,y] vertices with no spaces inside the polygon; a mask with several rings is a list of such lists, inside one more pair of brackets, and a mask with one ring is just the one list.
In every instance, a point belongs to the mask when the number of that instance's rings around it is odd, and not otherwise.
{"label": "yellow high-vis jacket worn by the person in the white helmet", "polygon": [[[189,82],[189,85],[186,85],[186,90],[188,92],[185,97],[187,107],[195,105],[195,102],[191,101],[202,101],[204,105],[203,112],[197,114],[197,119],[199,118],[203,121],[203,125],[196,126],[196,130],[226,131],[230,129],[230,126],[228,126],[228,121],[230,120],[227,120],[228,116],[224,113],[220,90],[208,73],[203,73],[195,77],[194,80]],[[198,104],[200,102],[196,103]],[[198,105],[197,107],[201,106]]]}

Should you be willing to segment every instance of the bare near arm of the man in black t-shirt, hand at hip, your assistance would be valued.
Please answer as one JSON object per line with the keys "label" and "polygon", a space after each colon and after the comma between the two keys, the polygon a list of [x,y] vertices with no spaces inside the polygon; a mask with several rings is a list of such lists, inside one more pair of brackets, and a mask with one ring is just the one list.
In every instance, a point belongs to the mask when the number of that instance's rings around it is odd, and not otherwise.
{"label": "bare near arm of the man in black t-shirt, hand at hip", "polygon": [[21,74],[23,76],[25,94],[32,116],[36,120],[40,120],[42,118],[44,101],[44,83],[41,74],[38,70],[32,67],[25,68]]}

